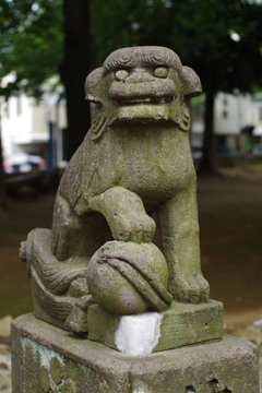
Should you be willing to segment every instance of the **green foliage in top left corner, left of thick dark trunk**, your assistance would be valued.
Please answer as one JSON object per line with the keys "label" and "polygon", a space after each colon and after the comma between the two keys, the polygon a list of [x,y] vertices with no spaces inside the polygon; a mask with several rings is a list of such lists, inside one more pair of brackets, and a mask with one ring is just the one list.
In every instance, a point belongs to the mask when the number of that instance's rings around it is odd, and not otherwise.
{"label": "green foliage in top left corner, left of thick dark trunk", "polygon": [[10,96],[20,90],[39,97],[41,84],[62,59],[61,0],[0,0],[0,80],[15,72],[13,82],[0,88]]}

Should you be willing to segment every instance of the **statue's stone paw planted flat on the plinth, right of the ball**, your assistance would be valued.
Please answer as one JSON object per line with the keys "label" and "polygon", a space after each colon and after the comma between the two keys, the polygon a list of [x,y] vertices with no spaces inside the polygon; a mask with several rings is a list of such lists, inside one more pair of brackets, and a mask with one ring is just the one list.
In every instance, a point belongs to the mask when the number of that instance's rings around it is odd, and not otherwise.
{"label": "statue's stone paw planted flat on the plinth, right of the ball", "polygon": [[180,274],[176,277],[175,300],[189,303],[201,303],[209,300],[210,285],[202,274]]}

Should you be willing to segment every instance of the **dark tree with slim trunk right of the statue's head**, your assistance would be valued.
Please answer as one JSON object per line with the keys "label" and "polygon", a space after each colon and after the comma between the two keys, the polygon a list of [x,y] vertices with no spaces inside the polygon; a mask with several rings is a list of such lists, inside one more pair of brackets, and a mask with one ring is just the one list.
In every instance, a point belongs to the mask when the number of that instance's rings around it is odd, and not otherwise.
{"label": "dark tree with slim trunk right of the statue's head", "polygon": [[[191,17],[189,33],[195,37],[194,52],[184,61],[199,73],[205,100],[204,150],[201,172],[214,172],[214,99],[217,92],[251,92],[262,83],[262,7],[246,1],[202,0]],[[194,7],[196,2],[194,2]],[[201,15],[206,15],[204,23]],[[198,23],[195,31],[193,24]]]}

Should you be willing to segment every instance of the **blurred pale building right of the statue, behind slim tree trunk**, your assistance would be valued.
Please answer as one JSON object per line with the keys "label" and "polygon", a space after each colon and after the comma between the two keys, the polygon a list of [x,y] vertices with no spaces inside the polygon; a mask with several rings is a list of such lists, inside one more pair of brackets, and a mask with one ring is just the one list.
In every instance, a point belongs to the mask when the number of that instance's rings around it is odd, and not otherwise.
{"label": "blurred pale building right of the statue, behind slim tree trunk", "polygon": [[[217,153],[251,153],[262,143],[262,93],[218,93],[215,98],[214,131]],[[204,97],[191,105],[191,141],[201,146],[204,132]]]}

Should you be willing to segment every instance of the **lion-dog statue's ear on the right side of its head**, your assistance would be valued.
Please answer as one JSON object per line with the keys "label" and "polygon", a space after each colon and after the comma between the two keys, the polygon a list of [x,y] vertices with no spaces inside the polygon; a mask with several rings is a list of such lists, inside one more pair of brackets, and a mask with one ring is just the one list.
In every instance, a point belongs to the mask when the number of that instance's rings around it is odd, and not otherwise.
{"label": "lion-dog statue's ear on the right side of its head", "polygon": [[181,93],[186,99],[196,97],[202,93],[200,79],[190,67],[183,66],[178,75],[181,83]]}

